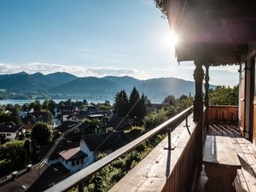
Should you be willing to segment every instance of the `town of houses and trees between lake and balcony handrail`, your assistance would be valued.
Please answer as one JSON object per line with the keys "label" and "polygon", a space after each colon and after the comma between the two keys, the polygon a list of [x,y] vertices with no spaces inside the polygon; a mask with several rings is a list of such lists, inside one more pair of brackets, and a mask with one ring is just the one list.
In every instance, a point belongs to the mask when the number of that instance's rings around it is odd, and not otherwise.
{"label": "town of houses and trees between lake and balcony handrail", "polygon": [[[130,143],[191,103],[189,96],[168,96],[163,103],[150,103],[134,87],[130,96],[125,90],[117,93],[113,106],[108,101],[95,104],[86,100],[1,106],[0,184],[6,187],[10,183],[14,187],[14,177],[25,175],[30,180],[24,188],[47,189]],[[141,158],[148,148],[142,149]]]}

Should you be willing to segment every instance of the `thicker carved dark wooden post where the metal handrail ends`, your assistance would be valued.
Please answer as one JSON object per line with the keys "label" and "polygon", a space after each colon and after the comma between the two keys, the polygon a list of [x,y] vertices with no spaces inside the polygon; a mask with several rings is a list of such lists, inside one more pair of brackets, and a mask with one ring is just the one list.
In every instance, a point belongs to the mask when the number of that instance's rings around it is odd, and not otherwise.
{"label": "thicker carved dark wooden post where the metal handrail ends", "polygon": [[194,112],[193,112],[193,120],[198,122],[202,119],[203,112],[203,101],[202,101],[202,82],[204,79],[204,70],[202,68],[201,63],[195,61],[195,71],[194,71],[194,79],[195,79],[195,100],[194,100]]}

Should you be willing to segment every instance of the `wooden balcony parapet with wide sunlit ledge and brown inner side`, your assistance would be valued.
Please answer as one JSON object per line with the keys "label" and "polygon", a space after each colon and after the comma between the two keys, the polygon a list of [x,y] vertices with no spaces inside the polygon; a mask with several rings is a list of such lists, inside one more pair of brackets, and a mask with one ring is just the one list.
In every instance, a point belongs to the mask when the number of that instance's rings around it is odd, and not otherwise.
{"label": "wooden balcony parapet with wide sunlit ledge and brown inner side", "polygon": [[184,120],[172,131],[176,148],[164,150],[167,139],[153,149],[131,172],[116,183],[109,192],[119,191],[174,191],[195,189],[196,177],[201,171],[202,148],[206,135],[205,112],[200,122],[189,115],[188,126]]}

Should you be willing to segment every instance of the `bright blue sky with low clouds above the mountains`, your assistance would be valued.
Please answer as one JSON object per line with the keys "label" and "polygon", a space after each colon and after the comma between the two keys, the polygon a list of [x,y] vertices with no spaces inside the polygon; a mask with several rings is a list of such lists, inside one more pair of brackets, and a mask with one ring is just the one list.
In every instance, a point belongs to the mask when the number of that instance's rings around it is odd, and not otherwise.
{"label": "bright blue sky with low clouds above the mountains", "polygon": [[[153,0],[0,1],[0,73],[130,75],[193,80],[177,64],[169,26]],[[214,67],[212,84],[238,83],[237,67]]]}

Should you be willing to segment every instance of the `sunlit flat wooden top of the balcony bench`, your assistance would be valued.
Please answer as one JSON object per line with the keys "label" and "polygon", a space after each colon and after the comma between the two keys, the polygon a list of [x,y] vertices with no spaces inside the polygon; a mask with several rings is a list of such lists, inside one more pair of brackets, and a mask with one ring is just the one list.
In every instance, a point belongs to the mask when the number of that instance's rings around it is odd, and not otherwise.
{"label": "sunlit flat wooden top of the balcony bench", "polygon": [[207,136],[203,164],[241,168],[230,137]]}

